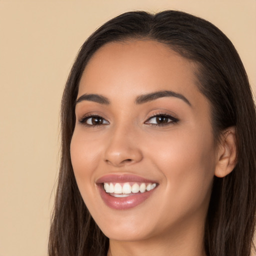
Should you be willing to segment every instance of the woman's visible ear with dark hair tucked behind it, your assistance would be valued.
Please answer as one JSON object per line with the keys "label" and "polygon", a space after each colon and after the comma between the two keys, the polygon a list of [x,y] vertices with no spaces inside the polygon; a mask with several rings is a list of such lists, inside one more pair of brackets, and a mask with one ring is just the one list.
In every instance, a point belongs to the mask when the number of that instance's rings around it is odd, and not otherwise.
{"label": "woman's visible ear with dark hair tucked behind it", "polygon": [[229,174],[236,164],[236,137],[235,127],[229,127],[221,135],[217,151],[214,174],[224,177]]}

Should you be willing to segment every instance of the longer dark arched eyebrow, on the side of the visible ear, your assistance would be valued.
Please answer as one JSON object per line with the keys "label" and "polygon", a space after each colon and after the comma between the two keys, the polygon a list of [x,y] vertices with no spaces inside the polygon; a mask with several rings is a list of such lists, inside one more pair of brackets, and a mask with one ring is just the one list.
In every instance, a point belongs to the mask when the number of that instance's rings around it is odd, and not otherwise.
{"label": "longer dark arched eyebrow, on the side of the visible ear", "polygon": [[191,106],[191,103],[189,102],[189,100],[182,94],[174,92],[172,90],[160,90],[160,91],[155,91],[152,93],[147,93],[147,94],[142,94],[139,95],[136,100],[135,103],[136,104],[143,104],[152,100],[155,100],[157,98],[161,98],[161,97],[177,97],[182,99],[184,102],[186,102],[189,106]]}

